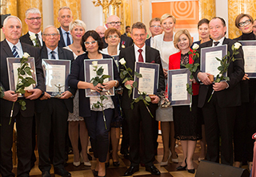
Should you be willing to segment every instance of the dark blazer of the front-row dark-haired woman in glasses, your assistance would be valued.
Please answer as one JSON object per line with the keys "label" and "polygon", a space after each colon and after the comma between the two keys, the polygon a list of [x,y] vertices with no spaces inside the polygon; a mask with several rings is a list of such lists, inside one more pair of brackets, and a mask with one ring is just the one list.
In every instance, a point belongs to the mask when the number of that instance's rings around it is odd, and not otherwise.
{"label": "dark blazer of the front-row dark-haired woman in glasses", "polygon": [[[104,58],[112,58],[109,55],[102,54]],[[73,88],[78,88],[79,81],[85,81],[85,70],[84,70],[84,60],[89,59],[87,53],[79,55],[73,62],[71,67],[71,72],[69,77],[67,78],[68,85]],[[113,69],[114,69],[114,80],[117,80],[120,83],[120,77],[118,74],[118,68],[113,60]],[[114,96],[111,96],[114,102],[115,114],[114,116],[118,116],[117,111],[117,102],[114,99]],[[90,98],[86,97],[85,89],[79,89],[79,116],[89,117],[90,116]]]}

